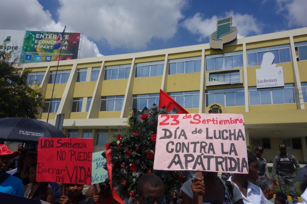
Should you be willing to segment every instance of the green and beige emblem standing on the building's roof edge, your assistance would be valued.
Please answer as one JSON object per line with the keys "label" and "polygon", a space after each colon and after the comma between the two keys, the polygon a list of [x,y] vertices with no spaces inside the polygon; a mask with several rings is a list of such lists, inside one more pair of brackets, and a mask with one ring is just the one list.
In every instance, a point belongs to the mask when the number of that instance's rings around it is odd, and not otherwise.
{"label": "green and beige emblem standing on the building's roof edge", "polygon": [[237,27],[232,25],[232,17],[219,19],[216,22],[216,31],[210,36],[210,47],[223,50],[223,45],[237,39]]}

